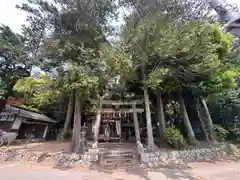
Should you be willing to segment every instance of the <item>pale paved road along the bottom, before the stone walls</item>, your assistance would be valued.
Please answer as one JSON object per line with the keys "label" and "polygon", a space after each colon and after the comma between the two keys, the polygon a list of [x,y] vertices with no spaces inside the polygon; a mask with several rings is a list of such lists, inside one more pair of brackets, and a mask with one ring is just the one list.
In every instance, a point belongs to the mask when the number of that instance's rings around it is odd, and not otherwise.
{"label": "pale paved road along the bottom, before the stone walls", "polygon": [[0,165],[0,180],[239,180],[240,162],[192,164],[192,169],[97,172],[82,169],[61,171],[48,167]]}

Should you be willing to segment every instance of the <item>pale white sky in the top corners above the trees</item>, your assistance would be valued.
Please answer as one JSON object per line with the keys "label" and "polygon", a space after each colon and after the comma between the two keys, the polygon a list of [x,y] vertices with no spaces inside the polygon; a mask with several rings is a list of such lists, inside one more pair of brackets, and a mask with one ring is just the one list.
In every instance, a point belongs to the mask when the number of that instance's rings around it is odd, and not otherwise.
{"label": "pale white sky in the top corners above the trees", "polygon": [[[8,25],[13,31],[21,33],[21,24],[26,21],[26,14],[15,8],[16,4],[26,2],[26,0],[0,0],[0,23]],[[227,0],[238,4],[240,8],[240,0]]]}

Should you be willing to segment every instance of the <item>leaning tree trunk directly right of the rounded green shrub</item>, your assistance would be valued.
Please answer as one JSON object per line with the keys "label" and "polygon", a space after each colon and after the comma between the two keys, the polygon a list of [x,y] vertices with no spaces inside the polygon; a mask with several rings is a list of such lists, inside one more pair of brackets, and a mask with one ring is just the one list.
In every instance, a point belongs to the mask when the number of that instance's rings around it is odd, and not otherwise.
{"label": "leaning tree trunk directly right of the rounded green shrub", "polygon": [[183,115],[183,122],[184,122],[184,125],[185,125],[186,129],[187,129],[189,142],[190,143],[195,143],[195,141],[196,141],[195,134],[194,134],[194,131],[192,129],[192,125],[190,123],[190,120],[189,120],[189,117],[188,117],[188,114],[187,114],[187,110],[186,110],[186,106],[185,106],[185,103],[184,103],[184,99],[183,99],[181,93],[178,94],[178,98],[179,98],[181,112],[182,112],[182,115]]}

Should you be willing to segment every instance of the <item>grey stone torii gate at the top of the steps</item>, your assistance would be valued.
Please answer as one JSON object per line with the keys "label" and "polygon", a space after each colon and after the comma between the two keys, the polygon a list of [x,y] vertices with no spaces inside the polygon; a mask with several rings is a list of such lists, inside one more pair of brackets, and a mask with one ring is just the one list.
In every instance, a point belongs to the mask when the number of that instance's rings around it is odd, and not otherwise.
{"label": "grey stone torii gate at the top of the steps", "polygon": [[144,112],[143,108],[137,108],[137,105],[141,105],[141,104],[143,104],[143,102],[140,100],[128,101],[128,102],[103,100],[101,102],[101,109],[97,112],[96,121],[95,121],[95,125],[94,125],[95,130],[94,130],[94,138],[93,138],[94,139],[93,148],[97,148],[102,113],[116,113],[115,109],[103,108],[104,105],[112,105],[112,106],[118,106],[118,107],[123,106],[123,105],[131,106],[131,108],[121,108],[120,107],[117,112],[133,114],[136,144],[138,147],[142,147],[140,131],[139,131],[139,123],[138,123],[138,117],[137,117],[138,113]]}

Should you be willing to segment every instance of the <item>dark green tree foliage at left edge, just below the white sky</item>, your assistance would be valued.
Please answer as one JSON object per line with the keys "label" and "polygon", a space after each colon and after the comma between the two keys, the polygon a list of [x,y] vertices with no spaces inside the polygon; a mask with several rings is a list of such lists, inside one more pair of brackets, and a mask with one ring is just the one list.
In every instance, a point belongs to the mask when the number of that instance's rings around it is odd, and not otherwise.
{"label": "dark green tree foliage at left edge, just below the white sky", "polygon": [[20,77],[29,76],[32,59],[25,37],[8,26],[0,26],[0,80],[1,95],[13,95],[13,86]]}

